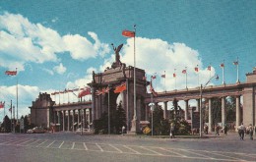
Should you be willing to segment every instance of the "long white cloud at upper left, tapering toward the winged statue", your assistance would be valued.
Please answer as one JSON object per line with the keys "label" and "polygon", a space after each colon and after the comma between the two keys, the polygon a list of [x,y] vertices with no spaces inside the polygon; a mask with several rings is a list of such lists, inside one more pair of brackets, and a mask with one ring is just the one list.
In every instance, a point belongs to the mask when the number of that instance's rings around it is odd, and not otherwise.
{"label": "long white cloud at upper left, tapering toward the winged statue", "polygon": [[4,13],[0,15],[0,64],[11,69],[16,62],[22,71],[28,62],[58,61],[57,53],[69,52],[73,59],[84,61],[109,52],[108,44],[101,43],[96,33],[89,35],[95,43],[79,34],[61,36],[52,28],[32,24],[22,15]]}

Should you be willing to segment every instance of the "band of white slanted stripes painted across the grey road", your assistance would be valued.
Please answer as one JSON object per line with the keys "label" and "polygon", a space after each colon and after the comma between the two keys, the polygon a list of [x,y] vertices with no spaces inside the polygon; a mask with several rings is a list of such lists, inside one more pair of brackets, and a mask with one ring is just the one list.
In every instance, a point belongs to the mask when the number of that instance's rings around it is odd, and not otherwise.
{"label": "band of white slanted stripes painted across the grey road", "polygon": [[199,160],[220,160],[220,161],[256,161],[256,154],[235,153],[224,151],[207,151],[195,149],[183,149],[173,147],[127,145],[112,143],[91,143],[69,140],[37,139],[5,137],[0,138],[0,145],[13,145],[17,147],[37,147],[44,149],[65,149],[80,151],[98,151],[108,153],[167,156],[176,158],[189,158]]}

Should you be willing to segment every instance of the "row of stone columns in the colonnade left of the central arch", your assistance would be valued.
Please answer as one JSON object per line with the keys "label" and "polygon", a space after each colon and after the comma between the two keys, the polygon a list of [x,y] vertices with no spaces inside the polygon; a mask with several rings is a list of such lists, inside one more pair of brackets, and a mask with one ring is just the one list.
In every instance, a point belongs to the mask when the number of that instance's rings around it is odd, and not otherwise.
{"label": "row of stone columns in the colonnade left of the central arch", "polygon": [[53,122],[60,126],[59,131],[75,132],[77,128],[90,128],[92,109],[54,110]]}

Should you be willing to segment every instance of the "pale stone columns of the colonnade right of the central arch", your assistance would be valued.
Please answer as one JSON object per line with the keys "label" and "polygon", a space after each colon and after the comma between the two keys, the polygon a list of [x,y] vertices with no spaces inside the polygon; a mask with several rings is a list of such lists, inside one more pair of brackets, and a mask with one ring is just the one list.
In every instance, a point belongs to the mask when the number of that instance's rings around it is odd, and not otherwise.
{"label": "pale stone columns of the colonnade right of the central arch", "polygon": [[[222,96],[221,97],[221,100],[222,100],[222,126],[224,126],[226,124],[226,110],[225,110],[225,97],[226,96]],[[213,102],[212,102],[212,99],[213,98],[208,98],[209,100],[209,103],[208,103],[208,112],[209,112],[209,118],[208,118],[208,121],[205,121],[205,123],[208,123],[208,127],[209,127],[209,131],[213,131],[213,126],[214,126],[214,123],[213,123]],[[184,119],[185,120],[188,120],[188,110],[189,110],[189,99],[184,99],[185,101],[185,107],[184,107]],[[196,99],[197,101],[197,107],[196,107],[196,112],[199,112],[200,111],[200,99]],[[169,119],[168,118],[168,110],[167,110],[167,102],[168,101],[164,101],[163,102],[163,118],[164,119]],[[158,105],[159,103],[156,102],[155,105]],[[241,111],[240,111],[240,95],[236,95],[235,96],[235,116],[236,116],[236,119],[235,119],[235,128],[238,128],[238,126],[241,124]],[[149,111],[150,109],[150,106],[147,106],[146,107],[146,117],[145,119],[146,120],[149,120]]]}

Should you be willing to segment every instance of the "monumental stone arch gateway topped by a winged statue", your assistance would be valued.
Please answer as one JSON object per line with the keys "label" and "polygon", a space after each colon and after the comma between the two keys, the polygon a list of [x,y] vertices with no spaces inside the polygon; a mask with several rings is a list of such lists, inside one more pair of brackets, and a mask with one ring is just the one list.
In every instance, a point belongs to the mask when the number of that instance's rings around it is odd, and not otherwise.
{"label": "monumental stone arch gateway topped by a winged statue", "polygon": [[[145,71],[136,68],[136,114],[134,114],[134,67],[121,63],[119,51],[122,44],[115,51],[115,62],[111,67],[107,67],[103,73],[95,74],[93,72],[93,81],[88,83],[92,88],[92,120],[99,119],[103,112],[108,112],[110,109],[110,116],[116,110],[119,103],[125,110],[127,131],[132,129],[132,121],[136,117],[136,126],[134,131],[139,132],[139,122],[146,119],[146,105],[145,98],[147,95],[148,82],[145,80]],[[126,90],[121,92],[114,92],[115,87],[121,84],[126,85]],[[100,95],[98,91],[109,88],[109,92],[102,92]],[[109,97],[109,98],[108,98]],[[121,101],[121,102],[120,102]],[[133,126],[134,127],[134,126]]]}

